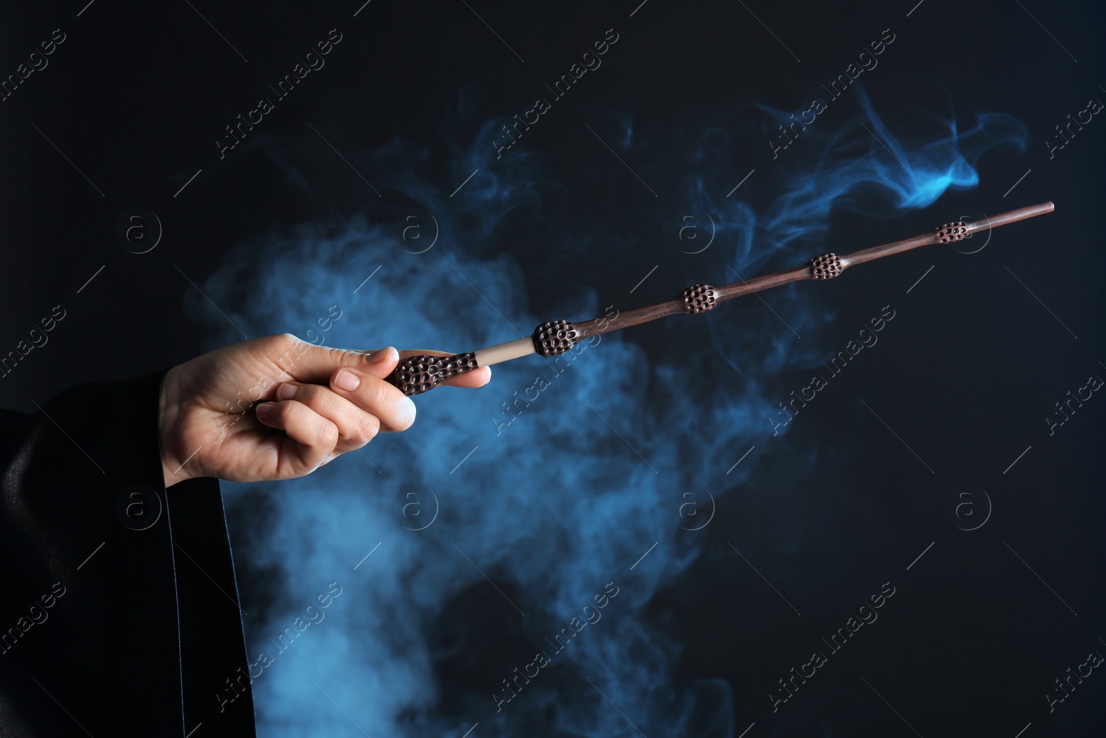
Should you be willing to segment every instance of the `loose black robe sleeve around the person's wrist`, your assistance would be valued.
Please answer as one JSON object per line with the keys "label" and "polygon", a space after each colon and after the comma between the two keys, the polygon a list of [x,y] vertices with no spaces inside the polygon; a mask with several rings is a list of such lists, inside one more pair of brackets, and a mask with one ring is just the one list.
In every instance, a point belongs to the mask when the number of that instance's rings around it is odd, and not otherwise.
{"label": "loose black robe sleeve around the person's wrist", "polygon": [[219,482],[163,486],[164,376],[0,415],[0,736],[254,736]]}

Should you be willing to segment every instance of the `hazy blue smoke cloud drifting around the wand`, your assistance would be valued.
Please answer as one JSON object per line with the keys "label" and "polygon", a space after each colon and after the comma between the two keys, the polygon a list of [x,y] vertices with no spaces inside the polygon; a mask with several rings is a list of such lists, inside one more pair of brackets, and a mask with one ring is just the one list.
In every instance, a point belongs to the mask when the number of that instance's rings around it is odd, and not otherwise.
{"label": "hazy blue smoke cloud drifting around the wand", "polygon": [[[748,278],[824,252],[834,208],[889,217],[926,207],[948,189],[974,186],[983,150],[1024,146],[1021,125],[995,114],[964,132],[945,122],[940,135],[907,144],[863,95],[862,106],[863,117],[832,137],[802,142],[806,155],[789,150],[759,171],[755,188],[745,185],[755,202],[740,200],[741,190],[723,195],[745,175],[729,164],[724,126],[696,131],[690,160],[672,162],[653,153],[670,150],[668,142],[630,135],[628,122],[612,124],[607,141],[624,158],[648,158],[645,176],[679,183],[670,210],[648,198],[639,212],[576,212],[559,202],[566,188],[538,154],[490,155],[494,123],[470,147],[455,148],[452,181],[479,171],[452,198],[411,173],[419,152],[395,144],[367,156],[374,171],[394,173],[380,179],[394,183],[389,195],[406,208],[396,210],[400,217],[358,215],[268,235],[232,252],[204,291],[251,336],[290,331],[307,339],[306,328],[337,304],[342,318],[325,333],[327,345],[468,351],[529,334],[544,320],[603,314],[607,305],[591,289],[534,314],[525,279],[584,248],[595,258],[602,243],[625,238],[618,233],[627,222],[640,232],[675,232],[680,214],[712,214],[717,246],[690,262],[688,283],[735,281],[734,273]],[[611,171],[580,170],[596,181]],[[408,212],[420,217],[418,241],[405,239]],[[414,253],[434,235],[427,214],[437,219],[438,241]],[[503,229],[541,233],[547,251],[522,266],[484,253],[481,245]],[[359,727],[371,736],[459,738],[478,721],[481,738],[637,735],[630,720],[650,736],[732,735],[729,686],[678,684],[679,643],[647,606],[703,545],[687,530],[699,520],[681,517],[681,492],[714,484],[717,496],[743,485],[755,458],[729,476],[718,469],[733,449],[763,440],[765,417],[783,394],[778,375],[823,353],[816,337],[796,343],[795,333],[816,336],[832,320],[813,295],[802,285],[772,293],[790,329],[770,313],[738,329],[718,315],[735,303],[707,319],[671,318],[657,330],[670,332],[674,355],[657,362],[611,334],[571,362],[501,364],[483,389],[416,398],[413,428],[377,438],[364,455],[294,481],[225,484],[239,578],[249,576],[243,569],[269,572],[272,585],[246,621],[251,662],[261,651],[274,662],[254,680],[260,735],[354,736]],[[187,300],[212,326],[212,347],[240,337],[205,300]],[[755,320],[763,323],[751,331]],[[717,351],[696,355],[697,343]],[[531,399],[539,377],[547,386]],[[273,640],[331,582],[342,594],[325,620],[279,651]],[[554,636],[611,582],[618,593],[602,619],[557,652]],[[497,711],[493,695],[512,694],[503,680],[535,652],[551,663]]]}

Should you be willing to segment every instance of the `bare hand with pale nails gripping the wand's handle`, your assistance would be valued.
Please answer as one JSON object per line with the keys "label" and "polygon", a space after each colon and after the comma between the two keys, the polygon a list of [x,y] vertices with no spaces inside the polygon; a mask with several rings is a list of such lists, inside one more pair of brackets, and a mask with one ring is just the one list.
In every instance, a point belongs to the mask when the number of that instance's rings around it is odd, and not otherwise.
{"label": "bare hand with pale nails gripping the wand's handle", "polygon": [[[158,414],[165,486],[192,477],[302,477],[379,432],[406,430],[415,403],[384,377],[401,356],[417,354],[446,355],[344,351],[284,333],[174,366]],[[490,380],[482,367],[442,384],[480,387]]]}

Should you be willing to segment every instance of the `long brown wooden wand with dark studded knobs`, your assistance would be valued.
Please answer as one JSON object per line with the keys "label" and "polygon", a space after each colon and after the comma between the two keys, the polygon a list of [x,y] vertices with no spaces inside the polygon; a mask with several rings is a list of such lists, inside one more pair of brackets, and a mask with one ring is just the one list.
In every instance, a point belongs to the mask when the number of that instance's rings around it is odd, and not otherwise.
{"label": "long brown wooden wand with dark studded knobs", "polygon": [[922,236],[875,246],[870,249],[854,251],[845,256],[839,257],[836,253],[826,253],[812,259],[801,267],[754,277],[750,280],[741,280],[731,284],[722,284],[721,287],[693,284],[684,290],[679,297],[665,302],[628,310],[613,318],[597,318],[585,323],[572,323],[563,320],[550,321],[534,329],[533,335],[529,337],[509,341],[466,354],[453,354],[451,356],[421,354],[418,356],[408,356],[400,360],[395,371],[387,376],[387,381],[398,387],[405,395],[418,395],[432,389],[451,376],[470,372],[480,366],[491,366],[492,364],[530,354],[556,356],[568,351],[577,341],[588,335],[609,333],[611,331],[648,323],[677,313],[696,315],[711,310],[719,302],[740,298],[751,292],[761,292],[773,287],[780,287],[781,284],[790,284],[800,280],[833,279],[841,276],[847,268],[864,263],[865,261],[872,261],[901,251],[909,251],[921,246],[953,243],[971,236],[975,231],[989,230],[1006,224],[1018,222],[1019,220],[1052,212],[1054,209],[1055,206],[1050,200],[989,217],[982,224],[949,222]]}

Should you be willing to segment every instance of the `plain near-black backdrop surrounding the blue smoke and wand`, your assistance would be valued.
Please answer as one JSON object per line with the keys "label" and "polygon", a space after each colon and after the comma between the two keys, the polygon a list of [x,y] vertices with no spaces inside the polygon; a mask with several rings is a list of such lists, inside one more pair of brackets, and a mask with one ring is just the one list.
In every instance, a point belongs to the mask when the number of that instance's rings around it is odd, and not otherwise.
{"label": "plain near-black backdrop surrounding the blue smoke and wand", "polygon": [[[530,309],[550,318],[561,316],[551,310],[563,294],[585,285],[604,305],[628,306],[666,299],[692,281],[729,281],[729,273],[726,280],[703,273],[717,264],[679,253],[686,212],[679,183],[649,181],[649,157],[668,157],[670,170],[688,152],[657,149],[628,160],[654,198],[581,123],[614,144],[619,121],[634,121],[643,139],[675,141],[689,121],[726,121],[733,134],[726,156],[735,176],[714,193],[721,200],[748,170],[774,166],[768,134],[748,123],[754,106],[804,110],[817,94],[812,91],[890,28],[894,45],[860,81],[893,129],[909,137],[912,125],[924,125],[924,110],[966,118],[1002,112],[1025,125],[1029,146],[989,152],[978,166],[978,189],[949,193],[925,211],[894,220],[836,214],[824,250],[848,252],[961,215],[979,218],[1046,199],[1056,212],[995,231],[979,253],[931,247],[858,267],[831,284],[799,285],[824,291],[825,304],[837,310],[823,335],[812,336],[826,357],[888,294],[902,306],[895,339],[878,361],[859,362],[836,380],[816,413],[769,450],[747,485],[731,490],[733,503],[720,506],[700,561],[650,607],[685,644],[677,683],[729,683],[732,735],[750,724],[751,737],[1100,735],[1106,677],[1097,671],[1052,714],[1044,695],[1088,652],[1106,651],[1104,548],[1095,532],[1104,519],[1102,401],[1088,401],[1053,436],[1042,423],[1067,391],[1106,373],[1098,322],[1106,268],[1098,128],[1106,124],[1095,117],[1052,159],[1044,143],[1088,98],[1106,97],[1099,4],[926,0],[911,12],[909,1],[745,8],[649,0],[635,12],[634,0],[471,8],[373,0],[353,18],[359,4],[194,9],[180,2],[154,10],[96,0],[80,17],[82,2],[4,9],[0,73],[13,73],[53,29],[66,40],[46,69],[0,103],[0,350],[14,349],[54,305],[67,313],[50,343],[3,377],[4,406],[29,410],[32,401],[41,404],[79,382],[137,375],[201,353],[210,333],[186,314],[184,295],[194,288],[182,273],[200,283],[232,247],[259,233],[356,212],[386,218],[389,187],[405,173],[395,164],[374,170],[372,156],[358,159],[357,169],[385,193],[378,198],[309,123],[349,157],[413,144],[425,154],[413,169],[448,195],[472,168],[456,163],[459,142],[467,145],[492,117],[509,119],[530,107],[543,82],[612,27],[620,39],[604,66],[520,145],[568,184],[545,194],[554,198],[550,208],[578,218],[565,229],[586,232],[589,212],[602,210],[624,214],[620,237],[597,240],[582,260],[542,248],[541,233],[513,230],[508,217],[483,242],[467,246],[484,257],[512,254]],[[344,38],[327,66],[220,160],[213,139],[223,126],[335,27]],[[825,127],[857,114],[855,102],[843,98],[825,114]],[[803,149],[803,143],[781,155],[785,166],[816,163],[821,149]],[[607,173],[606,186],[573,190],[573,168],[585,166]],[[757,177],[739,197],[757,201]],[[149,253],[129,253],[115,238],[117,219],[132,207],[153,210],[164,226]],[[472,217],[457,207],[453,217]],[[773,266],[811,256],[785,254]],[[653,357],[687,350],[670,330],[636,329],[628,339]],[[411,343],[418,345],[418,336]],[[706,386],[740,382],[729,367],[711,367]],[[796,373],[784,384],[797,388],[807,376]],[[689,413],[697,399],[688,399]],[[719,465],[728,467],[743,450]],[[847,462],[835,464],[838,453]],[[803,475],[793,471],[800,464]],[[822,466],[832,475],[820,474]],[[992,508],[987,523],[970,532],[946,512],[962,484],[985,489]],[[783,499],[781,487],[790,490]],[[781,532],[793,505],[818,521],[816,533]],[[739,540],[757,572],[727,547]],[[241,563],[246,596],[263,602],[264,580],[251,579],[248,561]],[[820,637],[885,581],[897,593],[880,611],[884,624],[862,630],[831,657],[828,674],[773,714],[764,693],[779,693],[776,679],[807,661]],[[448,703],[460,678],[440,676]],[[675,735],[670,726],[638,728],[650,737]]]}

